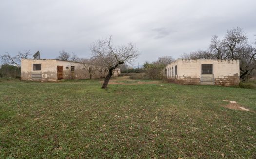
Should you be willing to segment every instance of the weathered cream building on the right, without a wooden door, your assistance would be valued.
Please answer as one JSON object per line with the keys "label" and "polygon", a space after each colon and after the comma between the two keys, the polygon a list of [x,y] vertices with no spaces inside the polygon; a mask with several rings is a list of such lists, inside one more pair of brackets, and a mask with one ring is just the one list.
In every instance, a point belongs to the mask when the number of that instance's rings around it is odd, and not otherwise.
{"label": "weathered cream building on the right, without a wooden door", "polygon": [[182,84],[238,85],[239,60],[177,59],[166,66],[164,75]]}

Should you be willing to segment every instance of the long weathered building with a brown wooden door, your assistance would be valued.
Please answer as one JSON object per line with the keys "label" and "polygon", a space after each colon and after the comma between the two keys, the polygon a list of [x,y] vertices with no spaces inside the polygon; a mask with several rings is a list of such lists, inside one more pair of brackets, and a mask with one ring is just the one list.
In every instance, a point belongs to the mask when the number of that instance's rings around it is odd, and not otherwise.
{"label": "long weathered building with a brown wooden door", "polygon": [[[89,72],[90,71],[90,72]],[[64,61],[58,59],[22,59],[21,79],[38,81],[57,81],[61,79],[96,79],[107,74],[107,70],[97,65]],[[113,76],[120,75],[120,69]]]}

